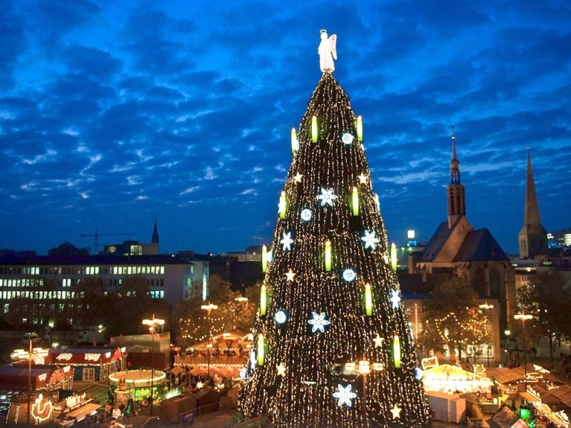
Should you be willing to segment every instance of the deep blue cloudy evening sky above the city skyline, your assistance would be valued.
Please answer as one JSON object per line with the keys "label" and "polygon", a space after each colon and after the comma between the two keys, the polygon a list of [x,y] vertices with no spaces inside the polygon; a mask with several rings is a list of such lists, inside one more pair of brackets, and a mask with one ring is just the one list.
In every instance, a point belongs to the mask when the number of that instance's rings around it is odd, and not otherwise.
{"label": "deep blue cloudy evening sky above the city skyline", "polygon": [[566,0],[1,1],[0,248],[155,218],[166,252],[268,243],[328,29],[389,240],[445,220],[455,124],[468,219],[513,252],[527,145],[543,225],[571,225],[570,23]]}

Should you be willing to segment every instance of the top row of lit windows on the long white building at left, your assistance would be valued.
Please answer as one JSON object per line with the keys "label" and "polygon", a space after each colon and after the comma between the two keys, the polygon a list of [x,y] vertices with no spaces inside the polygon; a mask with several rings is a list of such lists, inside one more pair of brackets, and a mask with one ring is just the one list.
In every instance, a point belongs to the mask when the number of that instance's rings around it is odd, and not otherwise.
{"label": "top row of lit windows on the long white building at left", "polygon": [[0,275],[164,275],[164,266],[2,266]]}

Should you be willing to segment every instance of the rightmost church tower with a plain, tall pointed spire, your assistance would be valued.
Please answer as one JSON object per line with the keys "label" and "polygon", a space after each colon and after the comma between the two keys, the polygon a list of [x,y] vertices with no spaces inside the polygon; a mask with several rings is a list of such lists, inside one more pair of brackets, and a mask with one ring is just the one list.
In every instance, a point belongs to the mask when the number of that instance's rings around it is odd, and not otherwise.
{"label": "rightmost church tower with a plain, tall pointed spire", "polygon": [[527,183],[525,187],[525,210],[523,226],[520,230],[520,258],[534,258],[538,253],[547,251],[547,232],[540,220],[540,208],[537,205],[535,183],[531,169],[530,147],[527,146]]}

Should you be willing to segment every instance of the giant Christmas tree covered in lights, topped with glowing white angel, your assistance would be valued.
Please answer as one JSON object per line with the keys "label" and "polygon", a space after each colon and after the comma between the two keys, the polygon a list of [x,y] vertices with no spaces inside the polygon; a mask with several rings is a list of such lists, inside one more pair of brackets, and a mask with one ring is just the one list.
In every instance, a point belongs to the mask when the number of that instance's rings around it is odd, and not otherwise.
{"label": "giant Christmas tree covered in lights, topped with glowing white angel", "polygon": [[[425,427],[408,317],[363,149],[322,54],[281,194],[239,408],[276,427]],[[328,61],[330,60],[330,61]]]}

